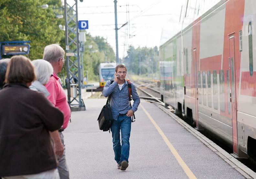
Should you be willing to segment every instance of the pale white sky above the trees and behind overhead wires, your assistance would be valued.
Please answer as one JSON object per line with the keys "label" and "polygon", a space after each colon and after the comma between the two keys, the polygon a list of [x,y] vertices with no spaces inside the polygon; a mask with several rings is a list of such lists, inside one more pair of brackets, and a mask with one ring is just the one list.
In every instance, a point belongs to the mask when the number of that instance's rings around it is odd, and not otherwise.
{"label": "pale white sky above the trees and behind overhead wires", "polygon": [[[185,0],[117,0],[119,58],[127,55],[129,45],[154,47],[160,45],[162,28],[172,31],[179,22]],[[67,0],[73,4],[74,0]],[[128,6],[129,5],[129,6]],[[128,13],[129,11],[129,13]],[[78,20],[89,21],[92,36],[102,36],[116,52],[113,0],[78,1]]]}

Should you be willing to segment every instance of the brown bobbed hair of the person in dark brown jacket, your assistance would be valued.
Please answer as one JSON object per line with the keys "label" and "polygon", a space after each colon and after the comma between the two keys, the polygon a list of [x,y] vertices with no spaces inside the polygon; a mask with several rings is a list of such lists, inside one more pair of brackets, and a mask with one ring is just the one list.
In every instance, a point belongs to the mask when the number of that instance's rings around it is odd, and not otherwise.
{"label": "brown bobbed hair of the person in dark brown jacket", "polygon": [[35,80],[31,61],[22,55],[15,55],[7,66],[5,83],[31,83]]}

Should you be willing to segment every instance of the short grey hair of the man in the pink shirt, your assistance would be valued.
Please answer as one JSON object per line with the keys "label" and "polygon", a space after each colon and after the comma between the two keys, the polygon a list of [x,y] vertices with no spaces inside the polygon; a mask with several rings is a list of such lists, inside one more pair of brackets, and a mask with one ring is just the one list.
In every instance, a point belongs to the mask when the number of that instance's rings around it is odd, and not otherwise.
{"label": "short grey hair of the man in the pink shirt", "polygon": [[44,48],[43,59],[50,62],[51,64],[59,61],[60,58],[64,58],[65,51],[58,44],[47,45]]}

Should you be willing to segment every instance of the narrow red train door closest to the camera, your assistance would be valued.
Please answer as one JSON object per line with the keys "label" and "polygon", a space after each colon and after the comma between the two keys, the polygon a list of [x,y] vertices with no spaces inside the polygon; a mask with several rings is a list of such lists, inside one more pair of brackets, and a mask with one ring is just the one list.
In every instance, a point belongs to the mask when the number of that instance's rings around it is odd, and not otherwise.
{"label": "narrow red train door closest to the camera", "polygon": [[229,76],[230,76],[230,102],[232,116],[233,153],[238,155],[237,139],[237,103],[236,103],[236,70],[235,70],[235,42],[234,34],[229,36]]}

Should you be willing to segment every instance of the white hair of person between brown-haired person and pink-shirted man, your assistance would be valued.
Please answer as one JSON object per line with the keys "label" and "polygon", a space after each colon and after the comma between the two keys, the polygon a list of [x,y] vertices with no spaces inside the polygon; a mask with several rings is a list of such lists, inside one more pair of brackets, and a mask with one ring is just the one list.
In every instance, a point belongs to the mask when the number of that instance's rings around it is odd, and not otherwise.
{"label": "white hair of person between brown-haired person and pink-shirted man", "polygon": [[50,76],[53,74],[52,65],[43,59],[33,60],[32,64],[34,65],[36,80],[43,85],[47,84]]}

